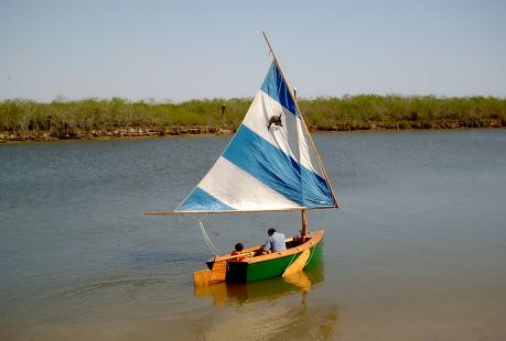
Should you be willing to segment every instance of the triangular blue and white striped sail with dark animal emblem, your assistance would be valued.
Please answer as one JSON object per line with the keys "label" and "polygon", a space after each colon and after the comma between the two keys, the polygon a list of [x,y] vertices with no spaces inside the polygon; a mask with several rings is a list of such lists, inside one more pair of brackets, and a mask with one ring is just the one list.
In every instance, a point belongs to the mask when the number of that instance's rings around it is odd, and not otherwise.
{"label": "triangular blue and white striped sail with dark animal emblem", "polygon": [[176,212],[336,207],[276,62],[237,133]]}

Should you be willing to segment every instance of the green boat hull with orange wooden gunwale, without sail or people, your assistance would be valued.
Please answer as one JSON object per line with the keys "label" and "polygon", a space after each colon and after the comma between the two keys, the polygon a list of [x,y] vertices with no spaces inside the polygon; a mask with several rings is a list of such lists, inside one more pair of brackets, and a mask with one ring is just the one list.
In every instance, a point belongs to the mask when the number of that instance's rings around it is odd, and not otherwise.
{"label": "green boat hull with orange wooden gunwale, without sail or people", "polygon": [[[248,283],[279,277],[284,273],[287,267],[290,266],[302,254],[302,252],[308,249],[310,251],[310,256],[303,267],[311,266],[321,258],[323,233],[323,230],[315,231],[310,234],[311,239],[305,243],[288,249],[283,252],[249,257],[240,262],[223,260],[227,263],[225,280],[229,283]],[[287,240],[287,244],[289,244],[289,241],[291,240],[292,239]],[[256,248],[248,250],[256,250]],[[214,262],[222,261],[222,257],[217,257],[213,262],[208,262],[209,268],[213,266]]]}

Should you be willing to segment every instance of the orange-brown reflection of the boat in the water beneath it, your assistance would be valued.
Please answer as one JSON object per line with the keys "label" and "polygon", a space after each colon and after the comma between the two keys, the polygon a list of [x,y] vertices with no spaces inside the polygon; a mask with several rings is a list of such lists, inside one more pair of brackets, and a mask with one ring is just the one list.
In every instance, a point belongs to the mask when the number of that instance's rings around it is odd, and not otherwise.
{"label": "orange-brown reflection of the boat in the water beneath it", "polygon": [[218,283],[195,287],[201,299],[212,298],[216,314],[200,331],[205,339],[335,339],[338,307],[319,299],[324,280],[322,262],[290,277],[248,284]]}

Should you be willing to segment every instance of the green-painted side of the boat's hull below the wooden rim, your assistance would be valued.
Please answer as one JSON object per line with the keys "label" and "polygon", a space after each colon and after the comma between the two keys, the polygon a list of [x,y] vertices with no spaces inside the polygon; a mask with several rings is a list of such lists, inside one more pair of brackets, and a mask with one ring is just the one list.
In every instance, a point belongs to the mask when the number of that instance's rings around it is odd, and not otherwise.
{"label": "green-painted side of the boat's hull below the wooden rim", "polygon": [[[311,266],[321,258],[322,254],[322,241],[313,248],[310,248],[310,258],[305,267]],[[272,278],[281,276],[284,270],[295,261],[300,255],[287,255],[284,257],[268,260],[258,263],[246,263],[246,262],[228,262],[226,282],[234,283],[247,283],[255,282],[266,278]]]}

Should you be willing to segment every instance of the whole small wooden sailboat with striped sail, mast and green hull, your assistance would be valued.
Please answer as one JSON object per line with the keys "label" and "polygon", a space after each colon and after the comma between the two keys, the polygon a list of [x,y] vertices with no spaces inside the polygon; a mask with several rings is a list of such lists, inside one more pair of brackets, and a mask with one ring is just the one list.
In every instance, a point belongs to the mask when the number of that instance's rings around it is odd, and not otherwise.
{"label": "whole small wooden sailboat with striped sail, mast and green hull", "polygon": [[207,261],[194,273],[195,285],[254,282],[288,276],[316,261],[324,230],[308,231],[306,210],[335,209],[338,201],[316,146],[262,32],[272,63],[251,106],[216,163],[175,211],[150,215],[301,211],[300,238],[286,240],[287,250],[262,252],[263,245]]}

